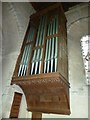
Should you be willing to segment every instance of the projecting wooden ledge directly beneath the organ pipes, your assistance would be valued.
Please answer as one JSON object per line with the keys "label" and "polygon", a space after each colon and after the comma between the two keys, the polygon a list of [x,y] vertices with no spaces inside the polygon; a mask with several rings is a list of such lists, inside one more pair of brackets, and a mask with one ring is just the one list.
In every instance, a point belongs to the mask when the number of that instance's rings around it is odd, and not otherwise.
{"label": "projecting wooden ledge directly beneath the organ pipes", "polygon": [[43,82],[57,82],[57,81],[61,81],[63,82],[65,85],[67,85],[68,87],[70,87],[69,82],[59,73],[59,72],[53,72],[53,73],[42,73],[42,74],[36,74],[36,75],[30,75],[30,76],[20,76],[20,77],[12,77],[12,81],[11,81],[11,85],[12,84],[27,84],[30,82],[38,82],[41,81],[41,83]]}

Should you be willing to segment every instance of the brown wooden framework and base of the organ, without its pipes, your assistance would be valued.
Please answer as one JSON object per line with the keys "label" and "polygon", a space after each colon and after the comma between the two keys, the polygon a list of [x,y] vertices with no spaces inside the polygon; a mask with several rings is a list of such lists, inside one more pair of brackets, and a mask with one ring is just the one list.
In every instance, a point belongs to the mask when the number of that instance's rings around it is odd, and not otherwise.
{"label": "brown wooden framework and base of the organ, without its pipes", "polygon": [[[58,15],[58,33],[53,35],[47,35],[47,24],[52,19],[53,14]],[[47,17],[45,21],[45,36],[44,43],[40,46],[35,46],[38,24],[40,17],[44,15]],[[12,77],[11,84],[19,85],[27,101],[27,110],[31,112],[44,112],[55,114],[70,114],[69,105],[69,87],[68,82],[68,55],[67,55],[67,34],[66,34],[66,18],[61,4],[57,3],[49,8],[35,13],[30,17],[29,27],[26,32],[26,36],[21,48],[20,55],[18,57],[15,71]],[[37,19],[38,18],[38,19]],[[29,33],[30,26],[33,25],[36,32],[32,42],[26,43],[27,35]],[[57,57],[57,71],[52,73],[44,73],[44,59],[46,42],[50,38],[58,38],[58,57]],[[24,47],[28,44],[32,44],[31,56],[29,59],[28,69],[25,76],[18,76],[18,69],[20,60],[24,51]],[[32,58],[34,50],[42,48],[42,63],[40,74],[30,75],[30,69],[32,65]],[[61,56],[62,54],[62,56]]]}

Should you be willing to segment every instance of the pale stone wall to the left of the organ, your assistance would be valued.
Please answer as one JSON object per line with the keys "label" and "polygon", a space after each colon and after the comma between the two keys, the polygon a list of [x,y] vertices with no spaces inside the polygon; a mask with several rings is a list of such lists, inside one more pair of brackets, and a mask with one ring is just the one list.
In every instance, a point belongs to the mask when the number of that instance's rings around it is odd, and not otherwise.
{"label": "pale stone wall to the left of the organ", "polygon": [[[23,93],[18,86],[10,86],[10,82],[28,26],[29,17],[34,12],[30,3],[3,3],[3,118],[9,117],[14,92]],[[27,117],[25,96],[22,99],[21,108],[19,117]]]}

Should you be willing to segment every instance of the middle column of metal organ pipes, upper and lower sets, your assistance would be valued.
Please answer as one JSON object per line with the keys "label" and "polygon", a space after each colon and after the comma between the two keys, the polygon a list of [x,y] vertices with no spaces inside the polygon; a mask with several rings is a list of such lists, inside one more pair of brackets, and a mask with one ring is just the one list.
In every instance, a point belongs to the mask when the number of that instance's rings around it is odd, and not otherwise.
{"label": "middle column of metal organ pipes, upper and lower sets", "polygon": [[[39,28],[38,28],[35,46],[41,46],[44,43],[45,27],[46,27],[45,23],[46,23],[46,17],[43,16],[40,19],[40,24],[39,24]],[[40,74],[41,62],[42,62],[42,48],[35,49],[34,55],[32,58],[32,66],[31,66],[30,75]]]}

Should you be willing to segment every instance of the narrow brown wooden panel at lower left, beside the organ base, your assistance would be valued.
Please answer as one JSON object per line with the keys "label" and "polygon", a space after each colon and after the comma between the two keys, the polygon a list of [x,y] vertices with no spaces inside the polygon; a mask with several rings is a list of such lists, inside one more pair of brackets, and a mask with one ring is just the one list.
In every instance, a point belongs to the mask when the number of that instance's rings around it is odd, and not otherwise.
{"label": "narrow brown wooden panel at lower left, beside the organ base", "polygon": [[10,118],[18,118],[22,94],[15,92],[11,107]]}

